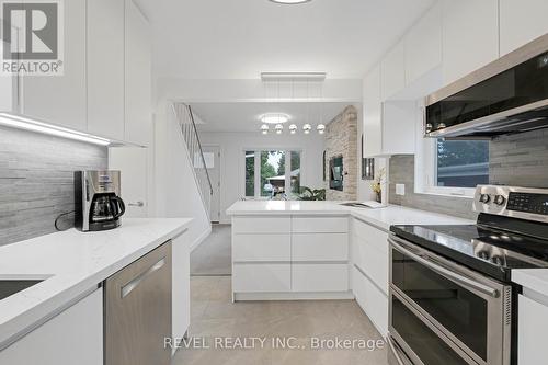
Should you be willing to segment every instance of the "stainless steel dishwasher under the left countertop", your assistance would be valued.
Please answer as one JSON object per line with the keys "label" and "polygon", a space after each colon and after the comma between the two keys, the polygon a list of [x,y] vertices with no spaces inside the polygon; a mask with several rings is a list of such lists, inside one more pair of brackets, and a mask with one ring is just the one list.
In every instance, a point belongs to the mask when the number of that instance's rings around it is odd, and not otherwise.
{"label": "stainless steel dishwasher under the left countertop", "polygon": [[169,365],[171,241],[105,281],[105,365]]}

